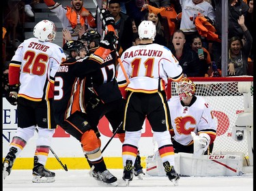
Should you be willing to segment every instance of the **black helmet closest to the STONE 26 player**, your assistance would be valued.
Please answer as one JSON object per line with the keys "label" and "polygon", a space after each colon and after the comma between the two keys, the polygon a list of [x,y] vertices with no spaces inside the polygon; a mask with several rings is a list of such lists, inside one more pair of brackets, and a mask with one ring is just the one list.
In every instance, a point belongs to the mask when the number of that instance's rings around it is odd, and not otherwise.
{"label": "black helmet closest to the STONE 26 player", "polygon": [[[67,54],[68,58],[74,58],[76,56],[81,56],[80,52],[85,51],[85,45],[81,41],[67,41],[63,45],[63,51]],[[76,52],[78,55],[72,55],[72,52]]]}

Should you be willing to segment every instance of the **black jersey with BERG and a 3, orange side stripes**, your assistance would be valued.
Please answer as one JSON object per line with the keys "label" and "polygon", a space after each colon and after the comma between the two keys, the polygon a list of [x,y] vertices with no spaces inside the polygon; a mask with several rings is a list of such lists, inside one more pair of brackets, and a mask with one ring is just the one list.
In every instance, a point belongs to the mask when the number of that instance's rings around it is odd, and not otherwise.
{"label": "black jersey with BERG and a 3, orange side stripes", "polygon": [[85,104],[91,96],[87,75],[100,68],[100,63],[85,58],[70,58],[61,63],[55,75],[53,109],[57,124],[61,124],[75,111],[85,113]]}

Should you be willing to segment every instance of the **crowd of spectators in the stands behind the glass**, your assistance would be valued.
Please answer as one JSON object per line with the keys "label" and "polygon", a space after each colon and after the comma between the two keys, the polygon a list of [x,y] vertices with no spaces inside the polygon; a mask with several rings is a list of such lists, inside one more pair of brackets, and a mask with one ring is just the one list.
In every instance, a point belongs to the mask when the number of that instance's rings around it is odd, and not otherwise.
{"label": "crowd of spectators in the stands behind the glass", "polygon": [[[84,15],[88,18],[83,22],[86,25],[83,30],[96,29],[96,20],[90,22],[89,19],[89,16],[96,16],[89,15],[91,13],[86,10],[87,1],[82,2]],[[58,2],[52,0],[4,1],[3,73],[8,73],[8,63],[19,42],[25,39],[24,24],[34,17],[34,3],[46,3],[51,11],[55,7],[61,7]],[[100,4],[100,8],[109,9],[115,18],[115,29],[123,52],[139,41],[137,27],[141,21],[152,20],[157,31],[154,43],[169,48],[180,61],[188,77],[211,77],[212,61],[221,72],[221,0],[102,0]],[[228,7],[227,75],[252,75],[251,71],[248,71],[248,65],[253,63],[253,1],[229,0]],[[64,10],[66,7],[62,8]],[[55,13],[58,12],[60,11],[55,9]],[[83,18],[83,13],[78,15]],[[62,25],[64,29],[63,22]],[[203,48],[201,57],[197,52],[199,48]],[[244,67],[243,71],[238,72],[241,66]]]}

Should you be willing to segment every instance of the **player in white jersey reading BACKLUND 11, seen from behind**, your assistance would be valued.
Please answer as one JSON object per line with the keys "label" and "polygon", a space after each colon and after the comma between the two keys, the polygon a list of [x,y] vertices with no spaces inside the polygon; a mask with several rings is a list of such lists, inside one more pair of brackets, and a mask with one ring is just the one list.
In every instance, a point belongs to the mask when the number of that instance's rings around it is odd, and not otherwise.
{"label": "player in white jersey reading BACKLUND 11, seen from behind", "polygon": [[158,143],[167,177],[176,184],[180,177],[174,169],[174,152],[169,133],[171,121],[165,86],[167,77],[179,80],[183,76],[182,67],[168,48],[152,44],[156,35],[156,26],[152,21],[141,22],[138,32],[140,44],[128,48],[121,56],[130,84],[126,82],[121,67],[117,74],[119,88],[126,99],[123,124],[126,133],[122,145],[123,179],[126,184],[132,181],[141,129],[147,117]]}

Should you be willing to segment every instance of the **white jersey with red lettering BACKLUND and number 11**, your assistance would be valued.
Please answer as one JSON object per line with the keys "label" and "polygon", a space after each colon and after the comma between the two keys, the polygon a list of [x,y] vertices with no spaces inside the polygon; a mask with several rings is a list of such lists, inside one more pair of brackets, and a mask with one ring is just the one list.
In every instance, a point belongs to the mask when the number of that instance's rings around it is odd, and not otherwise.
{"label": "white jersey with red lettering BACKLUND and number 11", "polygon": [[[168,77],[179,80],[182,76],[182,67],[171,50],[158,44],[132,46],[122,53],[121,60],[130,79],[126,90],[132,92],[165,90]],[[118,69],[117,82],[126,84],[121,67]]]}

